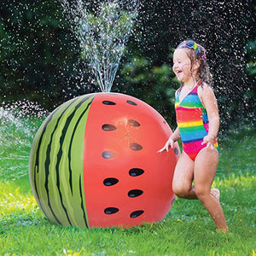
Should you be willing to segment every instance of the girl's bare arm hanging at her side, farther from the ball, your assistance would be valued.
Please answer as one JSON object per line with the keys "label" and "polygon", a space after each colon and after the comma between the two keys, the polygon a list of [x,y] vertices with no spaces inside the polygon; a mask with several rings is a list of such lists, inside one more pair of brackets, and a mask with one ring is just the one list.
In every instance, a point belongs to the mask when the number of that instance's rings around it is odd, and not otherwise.
{"label": "girl's bare arm hanging at her side, farther from the ball", "polygon": [[207,109],[207,115],[209,119],[208,135],[204,137],[202,144],[207,143],[207,146],[212,147],[216,137],[218,136],[218,128],[219,128],[218,103],[212,88],[209,86],[204,86],[203,88],[201,88],[201,90],[199,90],[199,96],[201,97],[201,101],[204,107]]}

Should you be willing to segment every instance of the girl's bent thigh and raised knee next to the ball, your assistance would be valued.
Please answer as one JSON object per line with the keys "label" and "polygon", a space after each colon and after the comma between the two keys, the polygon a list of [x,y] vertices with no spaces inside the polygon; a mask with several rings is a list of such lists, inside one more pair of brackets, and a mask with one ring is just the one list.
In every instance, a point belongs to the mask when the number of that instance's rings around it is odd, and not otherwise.
{"label": "girl's bent thigh and raised knee next to the ball", "polygon": [[195,188],[192,186],[194,178],[194,161],[189,155],[182,153],[177,160],[172,180],[172,190],[178,196],[186,199],[196,199]]}

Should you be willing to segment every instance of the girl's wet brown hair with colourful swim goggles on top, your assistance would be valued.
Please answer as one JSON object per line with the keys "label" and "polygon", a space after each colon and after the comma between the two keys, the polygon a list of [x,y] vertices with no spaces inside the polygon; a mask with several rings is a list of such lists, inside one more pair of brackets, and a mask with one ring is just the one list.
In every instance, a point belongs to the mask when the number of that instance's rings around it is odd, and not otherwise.
{"label": "girl's wet brown hair with colourful swim goggles on top", "polygon": [[178,44],[177,49],[185,48],[187,49],[187,55],[191,60],[191,69],[195,61],[200,61],[200,67],[198,69],[198,78],[202,82],[211,85],[212,84],[212,74],[210,73],[210,68],[207,64],[207,51],[200,44],[196,44],[193,40],[183,41],[181,44]]}

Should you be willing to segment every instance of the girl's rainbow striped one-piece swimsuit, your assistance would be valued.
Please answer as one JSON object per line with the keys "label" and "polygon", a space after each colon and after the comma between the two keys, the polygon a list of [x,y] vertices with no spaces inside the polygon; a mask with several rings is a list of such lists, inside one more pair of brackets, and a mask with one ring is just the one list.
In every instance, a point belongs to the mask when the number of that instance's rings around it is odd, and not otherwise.
{"label": "girl's rainbow striped one-piece swimsuit", "polygon": [[[207,144],[201,145],[201,143],[209,131],[207,110],[197,94],[199,84],[183,98],[182,102],[179,102],[179,90],[175,100],[177,127],[183,143],[183,151],[189,155],[191,160],[195,160],[201,149],[207,147]],[[219,152],[217,140],[213,146]]]}

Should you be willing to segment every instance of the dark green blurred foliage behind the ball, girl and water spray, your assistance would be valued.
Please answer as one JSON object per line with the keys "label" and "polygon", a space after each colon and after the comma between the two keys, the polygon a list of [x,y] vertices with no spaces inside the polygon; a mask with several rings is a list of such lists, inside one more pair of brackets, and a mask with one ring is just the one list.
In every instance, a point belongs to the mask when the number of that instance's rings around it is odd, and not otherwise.
{"label": "dark green blurred foliage behind the ball, girl and water spray", "polygon": [[[88,2],[93,9],[96,1]],[[9,0],[0,17],[1,102],[27,99],[51,111],[99,91],[58,1]],[[241,118],[254,124],[254,23],[251,0],[142,0],[112,90],[148,102],[173,124],[172,52],[192,38],[208,51],[223,127]]]}

